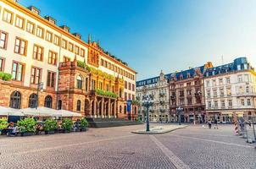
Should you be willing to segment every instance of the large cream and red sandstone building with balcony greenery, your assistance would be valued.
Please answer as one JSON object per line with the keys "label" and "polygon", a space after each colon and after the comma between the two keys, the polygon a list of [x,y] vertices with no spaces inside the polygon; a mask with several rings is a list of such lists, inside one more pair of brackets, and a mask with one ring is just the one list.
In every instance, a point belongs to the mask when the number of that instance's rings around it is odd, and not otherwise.
{"label": "large cream and red sandstone building with balcony greenery", "polygon": [[135,105],[126,110],[126,100],[135,99],[136,72],[91,35],[82,41],[68,26],[12,0],[0,0],[0,25],[1,106],[33,107],[38,97],[38,106],[88,117],[136,118]]}

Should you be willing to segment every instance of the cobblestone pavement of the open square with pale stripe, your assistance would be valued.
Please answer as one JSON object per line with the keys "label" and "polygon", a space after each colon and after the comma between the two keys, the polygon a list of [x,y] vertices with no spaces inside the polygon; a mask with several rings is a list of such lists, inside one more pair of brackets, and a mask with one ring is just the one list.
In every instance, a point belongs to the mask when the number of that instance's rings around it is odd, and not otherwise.
{"label": "cobblestone pavement of the open square with pale stripe", "polygon": [[131,134],[144,127],[0,137],[0,168],[256,168],[253,144],[235,136],[231,125],[219,129],[190,125],[168,134]]}

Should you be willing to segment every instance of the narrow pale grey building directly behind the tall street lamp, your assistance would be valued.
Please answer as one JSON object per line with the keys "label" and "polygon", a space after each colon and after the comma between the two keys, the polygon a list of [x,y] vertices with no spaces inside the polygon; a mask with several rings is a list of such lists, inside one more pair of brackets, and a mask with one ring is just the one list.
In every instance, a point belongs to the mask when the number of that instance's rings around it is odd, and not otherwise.
{"label": "narrow pale grey building directly behind the tall street lamp", "polygon": [[145,121],[146,109],[142,106],[143,95],[153,95],[153,106],[149,108],[149,120],[153,122],[169,122],[169,84],[163,71],[158,77],[136,82],[136,99],[140,101],[139,117]]}

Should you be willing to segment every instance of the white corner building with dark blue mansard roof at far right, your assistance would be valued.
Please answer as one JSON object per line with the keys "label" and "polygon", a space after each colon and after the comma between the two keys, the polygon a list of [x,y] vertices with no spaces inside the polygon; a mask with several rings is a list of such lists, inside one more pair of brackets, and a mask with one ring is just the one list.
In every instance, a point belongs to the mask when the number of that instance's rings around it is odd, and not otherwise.
{"label": "white corner building with dark blue mansard roof at far right", "polygon": [[204,92],[209,119],[232,123],[237,117],[255,116],[256,74],[246,57],[233,63],[209,68],[205,73]]}

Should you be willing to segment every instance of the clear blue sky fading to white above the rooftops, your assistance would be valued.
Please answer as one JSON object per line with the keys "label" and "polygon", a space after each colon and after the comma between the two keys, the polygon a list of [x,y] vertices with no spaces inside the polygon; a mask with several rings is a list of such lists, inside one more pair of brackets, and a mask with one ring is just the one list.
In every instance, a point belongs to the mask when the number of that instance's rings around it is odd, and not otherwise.
{"label": "clear blue sky fading to white above the rooftops", "polygon": [[68,25],[147,79],[207,61],[248,57],[256,67],[254,0],[19,0]]}

